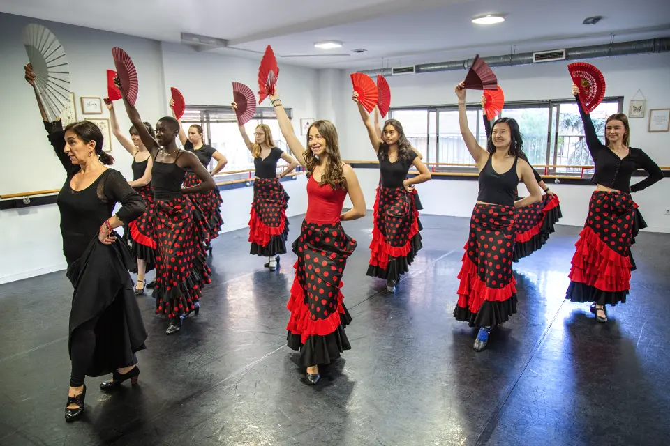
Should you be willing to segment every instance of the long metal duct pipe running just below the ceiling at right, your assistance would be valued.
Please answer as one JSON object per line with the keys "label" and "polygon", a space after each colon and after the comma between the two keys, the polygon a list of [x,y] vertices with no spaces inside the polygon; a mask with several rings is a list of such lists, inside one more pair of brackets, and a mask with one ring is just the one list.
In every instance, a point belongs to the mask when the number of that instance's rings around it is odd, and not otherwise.
{"label": "long metal duct pipe running just below the ceiling at right", "polygon": [[[597,59],[600,57],[627,56],[630,54],[662,53],[670,51],[670,37],[661,37],[645,40],[634,40],[632,42],[606,43],[604,45],[593,45],[590,47],[576,47],[565,49],[565,60],[575,59]],[[519,54],[504,54],[502,56],[484,57],[484,61],[491,67],[530,65],[533,63],[533,52]],[[468,70],[474,59],[463,59],[461,61],[449,61],[438,63],[422,63],[415,65],[417,74],[436,71]],[[560,62],[560,61],[559,61]],[[374,70],[361,71],[366,75],[390,76],[392,68],[376,68]]]}

